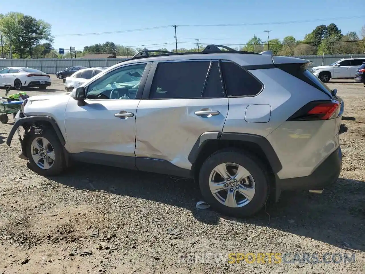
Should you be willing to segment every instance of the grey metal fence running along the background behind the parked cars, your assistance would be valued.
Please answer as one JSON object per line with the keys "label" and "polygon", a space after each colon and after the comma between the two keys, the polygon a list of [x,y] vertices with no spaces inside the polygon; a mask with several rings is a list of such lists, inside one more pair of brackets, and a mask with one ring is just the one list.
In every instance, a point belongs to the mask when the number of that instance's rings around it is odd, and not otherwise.
{"label": "grey metal fence running along the background behind the parked cars", "polygon": [[[322,56],[320,55],[306,55],[306,56],[292,56],[312,61],[313,66],[322,65]],[[365,54],[336,54],[336,55],[324,55],[323,65],[329,65],[341,58],[359,58],[364,57]],[[55,74],[58,71],[62,71],[70,66],[86,66],[88,68],[97,66],[112,66],[120,61],[127,60],[127,58],[100,58],[100,59],[0,59],[0,69],[7,68],[9,66],[30,67],[39,69],[45,73]]]}

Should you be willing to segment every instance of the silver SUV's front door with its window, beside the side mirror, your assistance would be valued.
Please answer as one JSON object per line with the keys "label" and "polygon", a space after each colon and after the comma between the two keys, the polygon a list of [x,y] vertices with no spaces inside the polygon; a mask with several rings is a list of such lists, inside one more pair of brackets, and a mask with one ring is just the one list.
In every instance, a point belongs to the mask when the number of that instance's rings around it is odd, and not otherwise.
{"label": "silver SUV's front door with its window, beside the side mirror", "polygon": [[[68,148],[77,160],[133,168],[136,94],[146,64],[127,65],[85,87],[85,106],[70,99],[65,125]],[[141,87],[142,88],[142,87]],[[142,91],[141,91],[142,92]]]}

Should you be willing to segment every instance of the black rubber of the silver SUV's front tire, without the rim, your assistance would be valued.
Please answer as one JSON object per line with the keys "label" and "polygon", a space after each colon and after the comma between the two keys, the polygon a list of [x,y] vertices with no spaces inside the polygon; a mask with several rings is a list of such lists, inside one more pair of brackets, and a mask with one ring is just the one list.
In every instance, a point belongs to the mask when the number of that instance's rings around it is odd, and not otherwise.
{"label": "black rubber of the silver SUV's front tire, without the rim", "polygon": [[[39,167],[35,163],[35,161],[32,157],[31,144],[34,139],[39,138],[39,137],[46,138],[50,142],[51,146],[53,147],[54,161],[49,169],[44,169],[44,168]],[[64,151],[63,151],[61,142],[59,142],[57,135],[52,130],[44,130],[39,134],[33,134],[32,136],[30,136],[30,138],[27,140],[26,152],[27,152],[27,157],[28,157],[29,163],[32,167],[32,170],[34,170],[35,172],[37,172],[38,174],[40,174],[42,176],[58,175],[65,168],[65,155],[64,155]]]}

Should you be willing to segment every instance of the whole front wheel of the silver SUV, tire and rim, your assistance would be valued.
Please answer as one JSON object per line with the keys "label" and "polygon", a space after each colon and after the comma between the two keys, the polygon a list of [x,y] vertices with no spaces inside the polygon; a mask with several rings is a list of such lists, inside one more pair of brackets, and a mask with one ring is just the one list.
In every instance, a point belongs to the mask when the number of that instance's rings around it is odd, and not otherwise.
{"label": "whole front wheel of the silver SUV, tire and rim", "polygon": [[51,130],[33,134],[27,141],[26,152],[32,169],[42,176],[58,175],[64,170],[62,145]]}

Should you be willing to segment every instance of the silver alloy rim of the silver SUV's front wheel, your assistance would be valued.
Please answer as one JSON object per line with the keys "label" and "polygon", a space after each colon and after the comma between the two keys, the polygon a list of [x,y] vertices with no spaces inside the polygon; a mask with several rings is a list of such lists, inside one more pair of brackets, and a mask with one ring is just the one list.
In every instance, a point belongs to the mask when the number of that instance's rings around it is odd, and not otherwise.
{"label": "silver alloy rim of the silver SUV's front wheel", "polygon": [[54,163],[54,150],[51,143],[44,137],[37,137],[32,141],[31,154],[38,167],[47,170]]}

